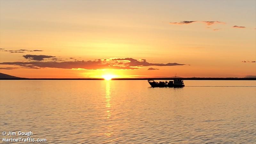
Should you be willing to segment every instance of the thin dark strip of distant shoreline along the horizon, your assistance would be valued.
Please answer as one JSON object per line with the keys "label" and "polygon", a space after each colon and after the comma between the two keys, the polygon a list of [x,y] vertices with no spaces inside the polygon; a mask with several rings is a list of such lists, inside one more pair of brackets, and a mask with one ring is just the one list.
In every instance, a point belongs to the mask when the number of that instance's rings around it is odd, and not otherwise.
{"label": "thin dark strip of distant shoreline along the horizon", "polygon": [[[186,77],[186,78],[112,78],[112,80],[256,80],[256,78],[213,78],[213,77]],[[104,78],[0,78],[0,80],[104,80]]]}

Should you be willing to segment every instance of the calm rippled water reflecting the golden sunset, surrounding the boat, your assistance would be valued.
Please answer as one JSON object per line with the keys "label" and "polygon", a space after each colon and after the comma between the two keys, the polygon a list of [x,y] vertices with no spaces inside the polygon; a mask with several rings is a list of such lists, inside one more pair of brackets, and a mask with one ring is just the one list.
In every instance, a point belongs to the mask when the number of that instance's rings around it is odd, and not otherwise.
{"label": "calm rippled water reflecting the golden sunset, surrounding the boat", "polygon": [[184,83],[1,80],[0,143],[27,138],[3,131],[45,143],[256,142],[256,81]]}

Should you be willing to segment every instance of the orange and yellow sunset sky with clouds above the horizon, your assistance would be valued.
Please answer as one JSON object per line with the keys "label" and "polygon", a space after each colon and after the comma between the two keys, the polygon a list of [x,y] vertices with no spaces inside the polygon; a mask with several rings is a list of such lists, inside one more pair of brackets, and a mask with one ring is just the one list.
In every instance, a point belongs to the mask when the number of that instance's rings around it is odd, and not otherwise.
{"label": "orange and yellow sunset sky with clouds above the horizon", "polygon": [[256,75],[256,1],[0,1],[0,72]]}

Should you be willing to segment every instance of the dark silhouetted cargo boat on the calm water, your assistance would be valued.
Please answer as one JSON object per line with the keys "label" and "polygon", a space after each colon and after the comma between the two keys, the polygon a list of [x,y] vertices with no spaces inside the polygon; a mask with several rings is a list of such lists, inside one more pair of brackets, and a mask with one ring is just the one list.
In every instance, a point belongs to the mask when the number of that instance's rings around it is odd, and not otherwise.
{"label": "dark silhouetted cargo boat on the calm water", "polygon": [[181,79],[174,79],[173,81],[155,82],[154,80],[148,80],[151,87],[184,87],[184,82]]}

